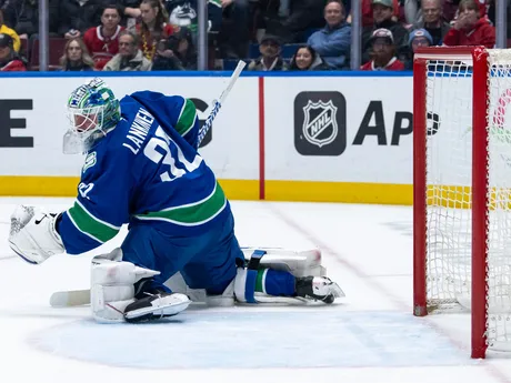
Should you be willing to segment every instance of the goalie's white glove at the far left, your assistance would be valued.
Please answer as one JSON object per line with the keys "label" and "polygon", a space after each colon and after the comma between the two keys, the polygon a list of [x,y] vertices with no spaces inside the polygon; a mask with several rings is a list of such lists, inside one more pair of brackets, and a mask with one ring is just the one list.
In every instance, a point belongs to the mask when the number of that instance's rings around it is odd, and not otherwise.
{"label": "goalie's white glove at the far left", "polygon": [[60,214],[41,208],[19,205],[11,215],[9,245],[24,261],[39,264],[64,252],[56,222]]}

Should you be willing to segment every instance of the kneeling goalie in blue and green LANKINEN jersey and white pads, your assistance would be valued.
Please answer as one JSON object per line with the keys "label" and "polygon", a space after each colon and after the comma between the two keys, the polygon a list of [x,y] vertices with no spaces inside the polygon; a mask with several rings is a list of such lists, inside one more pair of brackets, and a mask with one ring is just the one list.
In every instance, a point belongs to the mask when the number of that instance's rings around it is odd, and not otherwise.
{"label": "kneeling goalie in blue and green LANKINEN jersey and white pads", "polygon": [[128,235],[93,258],[90,303],[98,322],[176,315],[187,294],[166,285],[180,273],[210,305],[283,300],[332,303],[344,294],[324,276],[318,250],[242,250],[222,188],[198,152],[199,119],[179,95],[140,91],[118,100],[101,79],[68,100],[64,153],[86,153],[74,204],[64,212],[20,205],[9,244],[40,264]]}

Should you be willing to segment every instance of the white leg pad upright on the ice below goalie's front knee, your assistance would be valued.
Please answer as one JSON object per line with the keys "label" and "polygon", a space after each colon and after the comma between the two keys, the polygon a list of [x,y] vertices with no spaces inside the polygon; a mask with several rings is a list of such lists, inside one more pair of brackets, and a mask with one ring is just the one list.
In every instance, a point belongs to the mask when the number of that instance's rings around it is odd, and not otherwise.
{"label": "white leg pad upright on the ice below goalie's front knee", "polygon": [[92,259],[91,309],[100,323],[123,322],[126,308],[134,301],[134,283],[160,273],[121,259],[120,249]]}

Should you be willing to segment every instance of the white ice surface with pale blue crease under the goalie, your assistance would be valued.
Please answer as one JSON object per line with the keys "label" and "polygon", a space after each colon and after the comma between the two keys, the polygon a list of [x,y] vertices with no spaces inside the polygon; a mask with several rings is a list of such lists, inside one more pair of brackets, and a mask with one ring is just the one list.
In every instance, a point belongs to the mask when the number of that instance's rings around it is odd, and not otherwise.
{"label": "white ice surface with pale blue crease under the goalie", "polygon": [[470,359],[467,314],[412,316],[412,211],[405,206],[233,201],[242,245],[319,246],[347,298],[332,306],[191,309],[162,323],[101,325],[52,309],[87,289],[92,254],[30,265],[7,245],[18,203],[0,199],[1,382],[511,382],[511,360]]}

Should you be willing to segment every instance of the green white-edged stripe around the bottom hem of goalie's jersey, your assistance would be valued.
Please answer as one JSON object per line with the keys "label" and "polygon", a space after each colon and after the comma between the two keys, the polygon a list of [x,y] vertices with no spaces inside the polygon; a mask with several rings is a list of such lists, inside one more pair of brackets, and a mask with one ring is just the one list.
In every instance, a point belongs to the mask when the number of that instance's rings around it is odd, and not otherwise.
{"label": "green white-edged stripe around the bottom hem of goalie's jersey", "polygon": [[213,192],[201,201],[136,216],[140,220],[159,220],[182,226],[198,226],[211,221],[226,208],[226,194],[217,182]]}

